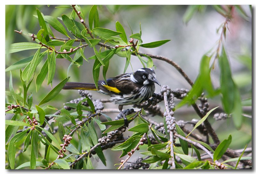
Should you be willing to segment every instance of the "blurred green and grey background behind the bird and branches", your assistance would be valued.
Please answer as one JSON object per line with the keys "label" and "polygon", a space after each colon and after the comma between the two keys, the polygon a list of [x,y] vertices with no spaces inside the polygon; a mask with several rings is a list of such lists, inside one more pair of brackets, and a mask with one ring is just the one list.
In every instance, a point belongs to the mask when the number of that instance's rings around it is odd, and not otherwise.
{"label": "blurred green and grey background behind the bird and branches", "polygon": [[[22,30],[24,33],[36,34],[40,29],[38,20],[33,15],[36,15],[36,7],[44,14],[53,17],[61,17],[61,14],[69,16],[72,9],[69,8],[56,8],[68,5],[6,5],[5,6],[5,45],[6,52],[11,43],[19,42],[33,42],[30,37],[19,35],[13,30]],[[85,16],[85,22],[88,23],[88,14],[92,5],[81,5],[83,14]],[[225,21],[225,18],[217,13],[210,5],[205,6],[200,13],[195,13],[192,19],[185,24],[183,22],[183,16],[186,12],[187,5],[98,5],[100,27],[116,30],[115,23],[119,21],[125,31],[126,35],[131,35],[131,29],[133,33],[138,33],[142,30],[143,43],[149,43],[158,40],[171,39],[170,42],[153,49],[140,48],[140,52],[153,55],[159,55],[172,59],[176,62],[185,73],[194,81],[199,72],[199,65],[201,57],[211,49],[216,49],[217,41],[220,38],[220,34],[216,32],[221,23]],[[226,51],[229,57],[230,66],[233,73],[233,79],[238,85],[241,99],[252,98],[252,21],[251,12],[249,6],[242,6],[244,11],[249,16],[249,20],[243,20],[236,12],[234,14],[234,20],[228,23],[229,31],[227,32],[227,39],[225,42]],[[76,18],[79,21],[78,18]],[[61,21],[61,20],[60,20]],[[130,25],[130,27],[129,27]],[[60,33],[52,29],[55,37],[64,37]],[[69,33],[70,34],[70,33]],[[71,36],[71,35],[70,35]],[[36,50],[20,51],[12,54],[5,55],[5,67],[9,67],[16,61],[24,59],[35,54]],[[85,48],[84,52],[86,58],[94,55],[93,49]],[[45,59],[45,58],[44,58]],[[108,68],[107,77],[113,77],[118,74],[122,74],[125,65],[125,58],[114,56]],[[132,68],[134,70],[141,68],[139,59],[132,56],[131,59]],[[156,65],[156,77],[162,85],[169,85],[171,89],[185,88],[190,89],[189,84],[179,74],[179,72],[170,66],[169,64],[153,59]],[[37,67],[37,73],[43,65],[42,61]],[[67,69],[70,62],[66,59],[56,59],[56,73],[53,79],[52,86],[56,86],[61,80],[67,77]],[[214,87],[219,87],[220,71],[217,64],[212,70],[212,83]],[[83,66],[77,68],[72,66],[69,74],[71,77],[70,82],[88,82],[93,83],[92,79],[92,66],[93,61],[90,63],[85,62]],[[126,72],[132,72],[132,68],[129,66]],[[16,93],[22,93],[22,85],[20,83],[19,70],[12,71],[13,87]],[[102,79],[100,73],[100,79]],[[35,81],[35,79],[34,79]],[[9,72],[5,73],[5,88],[9,91]],[[36,93],[35,83],[32,83],[28,94],[33,93],[33,103],[38,102],[51,90],[51,86],[44,83],[40,90]],[[156,86],[156,92],[160,90],[159,86]],[[108,98],[102,94],[92,91],[94,99]],[[58,109],[63,107],[63,103],[66,103],[72,99],[79,98],[76,90],[61,91],[56,98],[49,103]],[[6,96],[6,103],[10,103],[10,98]],[[178,100],[176,101],[178,102]],[[216,106],[221,106],[220,97],[217,96],[213,99],[208,99],[210,109]],[[113,104],[104,104],[105,108],[117,108]],[[131,108],[131,106],[126,106]],[[161,103],[161,109],[164,111],[164,105]],[[221,107],[219,108],[221,111]],[[252,107],[244,106],[243,111],[245,114],[252,115]],[[52,112],[52,111],[51,111]],[[52,114],[52,113],[46,113]],[[112,119],[117,114],[109,114]],[[6,117],[11,115],[7,114]],[[190,121],[193,118],[199,119],[195,114],[192,107],[181,107],[175,111],[175,117],[177,120]],[[232,135],[232,143],[230,148],[238,149],[244,148],[245,144],[249,143],[251,146],[252,138],[252,120],[244,117],[244,124],[241,130],[236,130],[231,119],[215,121],[212,116],[208,117],[212,127],[216,130],[220,140],[227,138],[229,134]],[[161,117],[154,117],[157,122],[162,122]],[[189,127],[188,127],[189,128]],[[192,127],[191,127],[192,128]],[[126,135],[129,132],[125,132]],[[146,147],[145,147],[146,148]],[[29,150],[28,150],[29,151]],[[44,151],[42,151],[43,153]],[[119,163],[113,161],[120,156],[121,152],[106,150],[108,167],[115,169],[113,164]],[[113,155],[115,157],[113,158]],[[20,155],[18,158],[25,158],[25,161],[29,160],[29,157]],[[28,159],[27,159],[28,158]],[[52,156],[52,160],[56,158],[56,155]],[[131,160],[136,158],[132,156]],[[50,158],[51,159],[51,158]],[[121,160],[121,159],[120,159]],[[18,160],[21,161],[22,160]],[[101,162],[97,163],[92,161],[93,166],[97,166],[97,169],[104,168]]]}

